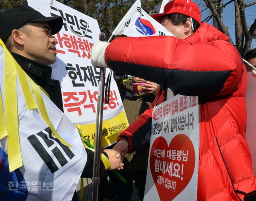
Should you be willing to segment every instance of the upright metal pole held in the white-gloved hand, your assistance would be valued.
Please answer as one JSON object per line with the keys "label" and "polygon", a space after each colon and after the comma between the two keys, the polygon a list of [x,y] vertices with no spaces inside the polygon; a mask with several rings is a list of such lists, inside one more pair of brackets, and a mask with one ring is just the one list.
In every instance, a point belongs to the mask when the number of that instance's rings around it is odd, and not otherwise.
{"label": "upright metal pole held in the white-gloved hand", "polygon": [[92,174],[92,201],[98,201],[98,191],[100,184],[100,150],[101,150],[101,133],[102,133],[102,119],[103,119],[103,102],[104,102],[104,87],[105,87],[105,74],[106,69],[100,68],[99,79],[99,93],[98,93],[98,106],[96,117],[96,135],[95,135],[95,152],[93,161],[93,174]]}

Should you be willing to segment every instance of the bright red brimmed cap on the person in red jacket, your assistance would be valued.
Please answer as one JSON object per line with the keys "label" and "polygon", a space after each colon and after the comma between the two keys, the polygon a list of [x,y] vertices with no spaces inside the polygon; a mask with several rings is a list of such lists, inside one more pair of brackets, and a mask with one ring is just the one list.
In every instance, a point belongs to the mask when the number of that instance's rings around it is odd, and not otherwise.
{"label": "bright red brimmed cap on the person in red jacket", "polygon": [[164,12],[160,14],[151,15],[157,22],[160,22],[162,18],[171,13],[180,13],[186,16],[190,16],[196,22],[201,24],[201,12],[198,6],[192,0],[172,0],[164,6]]}

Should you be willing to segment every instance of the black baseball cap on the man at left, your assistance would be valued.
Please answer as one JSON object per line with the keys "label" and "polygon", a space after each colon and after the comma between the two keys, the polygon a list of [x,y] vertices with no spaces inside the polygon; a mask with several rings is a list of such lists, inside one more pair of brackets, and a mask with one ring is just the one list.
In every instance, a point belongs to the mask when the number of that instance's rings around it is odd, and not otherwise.
{"label": "black baseball cap on the man at left", "polygon": [[16,6],[0,13],[0,22],[0,38],[3,41],[12,33],[12,30],[27,22],[48,22],[52,35],[61,30],[63,23],[62,17],[46,17],[27,5]]}

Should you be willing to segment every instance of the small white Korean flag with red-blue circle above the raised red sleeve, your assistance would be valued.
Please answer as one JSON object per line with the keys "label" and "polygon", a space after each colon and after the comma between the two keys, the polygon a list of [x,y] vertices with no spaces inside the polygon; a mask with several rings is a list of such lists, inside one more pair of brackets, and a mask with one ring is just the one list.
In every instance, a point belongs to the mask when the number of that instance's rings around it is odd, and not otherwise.
{"label": "small white Korean flag with red-blue circle above the raised red sleeve", "polygon": [[126,35],[132,37],[172,35],[160,23],[150,17],[142,8],[140,0],[137,0],[118,24],[113,35]]}

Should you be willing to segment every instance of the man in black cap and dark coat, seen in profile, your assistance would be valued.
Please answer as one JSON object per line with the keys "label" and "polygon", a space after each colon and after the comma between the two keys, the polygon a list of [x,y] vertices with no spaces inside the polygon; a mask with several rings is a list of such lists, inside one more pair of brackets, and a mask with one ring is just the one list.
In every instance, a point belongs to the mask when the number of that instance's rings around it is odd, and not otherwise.
{"label": "man in black cap and dark coat, seen in profile", "polygon": [[[63,112],[60,82],[51,79],[52,68],[48,65],[56,60],[58,43],[53,36],[62,28],[60,16],[46,17],[30,6],[22,5],[0,13],[0,38],[22,69],[46,91],[56,106]],[[86,149],[87,161],[81,177],[92,177],[94,152]],[[121,158],[116,160],[113,150],[102,152],[108,156],[110,169],[123,169]],[[115,196],[108,183],[103,162],[100,168],[101,183],[105,183],[106,196]],[[107,192],[108,191],[108,192]],[[78,200],[76,193],[72,200]]]}

